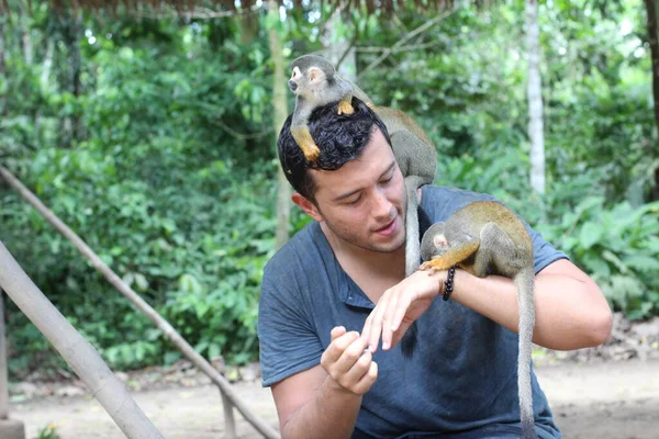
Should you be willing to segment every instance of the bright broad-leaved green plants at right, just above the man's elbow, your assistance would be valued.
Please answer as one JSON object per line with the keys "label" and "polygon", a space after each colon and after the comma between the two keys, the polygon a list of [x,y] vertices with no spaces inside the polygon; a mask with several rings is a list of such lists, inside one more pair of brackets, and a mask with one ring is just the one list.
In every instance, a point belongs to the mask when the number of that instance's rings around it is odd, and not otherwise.
{"label": "bright broad-leaved green plants at right, just above the man's elbow", "polygon": [[614,308],[633,319],[659,312],[659,202],[607,209],[591,196],[540,230],[592,274]]}

